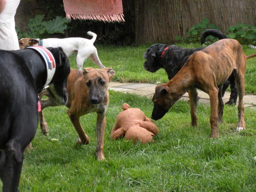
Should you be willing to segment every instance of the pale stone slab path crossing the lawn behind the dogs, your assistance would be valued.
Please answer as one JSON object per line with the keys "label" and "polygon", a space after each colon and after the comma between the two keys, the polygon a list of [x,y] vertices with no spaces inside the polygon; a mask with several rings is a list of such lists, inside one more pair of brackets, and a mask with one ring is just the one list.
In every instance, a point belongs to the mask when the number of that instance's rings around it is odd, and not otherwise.
{"label": "pale stone slab path crossing the lawn behind the dogs", "polygon": [[[157,84],[148,84],[148,83],[119,83],[119,82],[111,82],[109,89],[120,91],[124,93],[135,93],[141,96],[147,96],[152,98],[155,87]],[[204,93],[201,90],[198,90],[199,102],[201,103],[209,103],[209,95]],[[227,102],[230,97],[230,92],[226,92],[223,97],[223,102]],[[185,93],[181,99],[189,100],[188,93]],[[244,96],[244,107],[250,107],[256,109],[256,95],[245,95]]]}

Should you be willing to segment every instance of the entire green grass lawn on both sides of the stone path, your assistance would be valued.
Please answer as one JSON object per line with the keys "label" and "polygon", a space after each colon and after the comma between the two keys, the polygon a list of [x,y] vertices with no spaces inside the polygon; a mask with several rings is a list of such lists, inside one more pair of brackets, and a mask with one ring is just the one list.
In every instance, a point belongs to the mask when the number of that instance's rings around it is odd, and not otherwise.
{"label": "entire green grass lawn on both sides of the stone path", "polygon": [[[180,45],[199,47],[199,45]],[[113,81],[166,82],[164,70],[149,73],[143,69],[143,52],[149,46],[96,46],[99,58],[116,75]],[[246,55],[256,52],[244,46]],[[70,57],[76,67],[75,55]],[[247,93],[256,93],[256,60],[248,61]],[[84,67],[95,67],[88,59]],[[218,139],[209,139],[209,105],[198,105],[198,127],[190,125],[189,102],[178,101],[166,115],[154,121],[159,134],[154,143],[135,145],[124,139],[110,139],[111,128],[122,103],[140,108],[150,117],[151,98],[110,91],[105,129],[105,161],[95,159],[96,113],[81,117],[90,137],[89,145],[76,145],[78,135],[64,106],[46,108],[49,136],[38,128],[32,141],[34,149],[27,153],[20,178],[20,191],[255,191],[256,115],[245,108],[246,130],[236,132],[237,108],[224,106],[224,123],[219,125]],[[2,183],[0,182],[0,186]]]}

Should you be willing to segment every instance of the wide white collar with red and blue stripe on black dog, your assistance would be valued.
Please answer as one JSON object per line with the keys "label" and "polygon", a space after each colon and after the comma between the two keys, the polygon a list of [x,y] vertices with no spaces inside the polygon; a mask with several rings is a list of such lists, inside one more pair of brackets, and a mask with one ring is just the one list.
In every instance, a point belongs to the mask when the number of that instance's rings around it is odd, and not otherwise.
{"label": "wide white collar with red and blue stripe on black dog", "polygon": [[52,53],[42,46],[26,47],[26,49],[35,49],[44,59],[47,68],[47,81],[44,84],[44,87],[46,87],[52,81],[56,69],[55,59]]}

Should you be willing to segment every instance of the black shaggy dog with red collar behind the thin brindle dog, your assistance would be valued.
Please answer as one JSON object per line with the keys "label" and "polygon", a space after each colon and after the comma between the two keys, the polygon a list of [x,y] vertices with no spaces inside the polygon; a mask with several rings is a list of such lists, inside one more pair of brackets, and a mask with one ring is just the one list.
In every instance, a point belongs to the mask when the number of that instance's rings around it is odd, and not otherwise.
{"label": "black shaggy dog with red collar behind the thin brindle dog", "polygon": [[[217,29],[207,29],[201,35],[201,44],[204,43],[208,35],[215,36],[219,39],[225,39],[227,36]],[[184,49],[175,45],[166,44],[154,44],[146,50],[143,57],[146,59],[144,68],[151,73],[156,72],[160,68],[166,70],[168,79],[172,79],[173,76],[181,69],[186,60],[194,52],[204,49],[204,47],[194,49]],[[237,100],[237,87],[233,74],[223,84],[222,96],[224,96],[225,90],[230,84],[231,94],[230,99],[226,103],[227,105],[236,104]]]}

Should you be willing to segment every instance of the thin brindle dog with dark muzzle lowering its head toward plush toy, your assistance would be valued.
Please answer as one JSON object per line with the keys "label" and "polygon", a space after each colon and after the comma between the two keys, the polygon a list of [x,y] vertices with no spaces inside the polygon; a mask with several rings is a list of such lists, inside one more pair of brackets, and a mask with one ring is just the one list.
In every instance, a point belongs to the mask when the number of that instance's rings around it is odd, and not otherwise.
{"label": "thin brindle dog with dark muzzle lowering its head toward plush toy", "polygon": [[244,124],[244,73],[246,58],[238,41],[223,39],[215,42],[201,51],[193,53],[180,71],[168,82],[159,85],[153,96],[154,109],[151,118],[162,118],[165,113],[186,92],[189,92],[192,126],[198,125],[196,114],[196,88],[203,90],[210,97],[211,138],[219,137],[218,123],[222,122],[223,102],[221,96],[222,84],[233,73],[239,93],[238,125],[236,130],[245,129]]}

